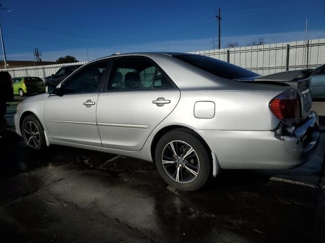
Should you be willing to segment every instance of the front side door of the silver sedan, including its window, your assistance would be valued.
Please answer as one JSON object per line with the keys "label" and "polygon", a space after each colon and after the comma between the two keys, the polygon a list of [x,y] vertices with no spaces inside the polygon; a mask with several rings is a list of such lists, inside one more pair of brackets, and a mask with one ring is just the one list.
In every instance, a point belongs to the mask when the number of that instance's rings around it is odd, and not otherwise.
{"label": "front side door of the silver sedan, including its window", "polygon": [[101,77],[108,61],[85,65],[60,86],[62,97],[50,95],[44,116],[51,139],[60,142],[102,146],[96,126],[96,106]]}

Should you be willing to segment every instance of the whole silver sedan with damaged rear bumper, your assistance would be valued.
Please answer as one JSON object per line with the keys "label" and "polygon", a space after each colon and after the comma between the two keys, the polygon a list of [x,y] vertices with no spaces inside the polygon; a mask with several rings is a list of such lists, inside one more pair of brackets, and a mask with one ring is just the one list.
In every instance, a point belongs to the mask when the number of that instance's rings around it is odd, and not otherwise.
{"label": "whole silver sedan with damaged rear bumper", "polygon": [[197,190],[220,169],[287,169],[318,142],[311,70],[259,77],[210,57],[132,53],[80,67],[17,106],[25,144],[154,161],[163,179]]}

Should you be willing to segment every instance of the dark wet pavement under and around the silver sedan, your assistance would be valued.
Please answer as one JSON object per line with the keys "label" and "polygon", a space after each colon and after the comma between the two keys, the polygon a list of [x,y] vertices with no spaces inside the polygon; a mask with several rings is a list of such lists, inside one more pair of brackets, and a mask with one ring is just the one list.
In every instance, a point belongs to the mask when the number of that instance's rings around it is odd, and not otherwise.
{"label": "dark wet pavement under and around the silver sedan", "polygon": [[[143,160],[62,146],[27,149],[13,130],[16,104],[0,125],[3,239],[325,242],[321,151],[301,168],[222,171],[204,189],[181,192]],[[316,105],[325,115],[325,102]]]}

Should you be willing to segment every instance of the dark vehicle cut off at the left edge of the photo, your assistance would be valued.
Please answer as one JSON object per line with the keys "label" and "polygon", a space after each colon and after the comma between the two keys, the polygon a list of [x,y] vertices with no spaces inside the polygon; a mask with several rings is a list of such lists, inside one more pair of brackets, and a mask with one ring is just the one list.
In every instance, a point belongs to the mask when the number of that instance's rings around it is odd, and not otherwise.
{"label": "dark vehicle cut off at the left edge of the photo", "polygon": [[14,99],[12,78],[7,71],[0,71],[0,117],[7,112],[7,101]]}

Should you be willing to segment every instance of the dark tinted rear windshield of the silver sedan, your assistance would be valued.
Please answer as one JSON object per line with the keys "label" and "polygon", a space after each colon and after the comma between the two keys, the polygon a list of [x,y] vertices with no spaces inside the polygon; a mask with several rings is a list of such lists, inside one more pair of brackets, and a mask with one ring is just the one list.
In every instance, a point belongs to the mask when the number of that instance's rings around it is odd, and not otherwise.
{"label": "dark tinted rear windshield of the silver sedan", "polygon": [[176,55],[174,57],[219,77],[234,79],[259,76],[257,73],[249,71],[245,68],[211,57],[195,55]]}

